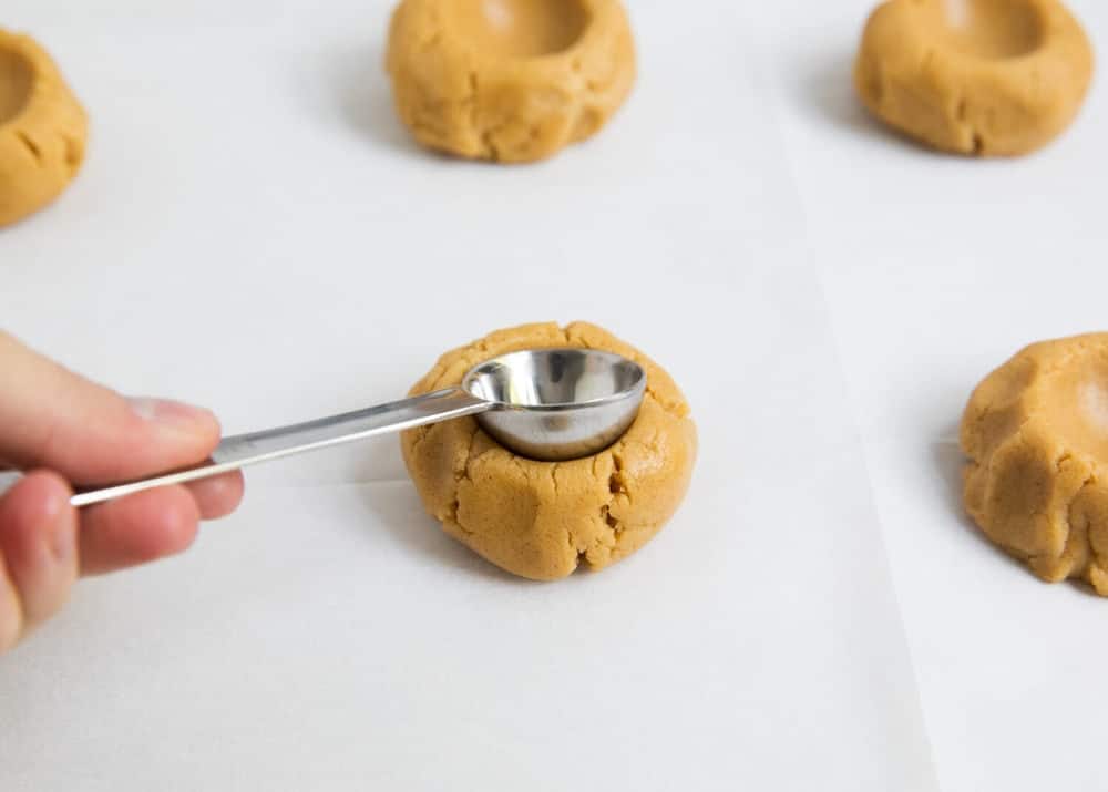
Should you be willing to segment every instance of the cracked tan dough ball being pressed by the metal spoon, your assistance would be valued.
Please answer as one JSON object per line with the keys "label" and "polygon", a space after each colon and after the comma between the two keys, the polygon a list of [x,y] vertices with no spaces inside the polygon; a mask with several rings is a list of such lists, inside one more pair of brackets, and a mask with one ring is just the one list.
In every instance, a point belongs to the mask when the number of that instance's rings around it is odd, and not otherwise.
{"label": "cracked tan dough ball being pressed by the metal spoon", "polygon": [[584,347],[616,352],[646,370],[630,429],[605,451],[537,462],[507,451],[472,418],[404,432],[404,463],[443,529],[511,573],[554,580],[578,565],[602,569],[646,544],[677,510],[696,457],[696,428],[665,371],[594,325],[524,325],[447,352],[411,390],[461,383],[472,367],[521,349]]}

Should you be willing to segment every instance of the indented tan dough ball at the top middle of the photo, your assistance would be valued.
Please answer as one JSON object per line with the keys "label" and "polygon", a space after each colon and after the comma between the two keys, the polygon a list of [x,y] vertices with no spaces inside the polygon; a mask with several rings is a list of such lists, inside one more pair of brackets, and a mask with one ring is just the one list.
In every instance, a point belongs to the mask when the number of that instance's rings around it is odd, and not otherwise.
{"label": "indented tan dough ball at the top middle of the photo", "polygon": [[592,136],[635,80],[619,0],[402,0],[387,60],[416,140],[497,162]]}

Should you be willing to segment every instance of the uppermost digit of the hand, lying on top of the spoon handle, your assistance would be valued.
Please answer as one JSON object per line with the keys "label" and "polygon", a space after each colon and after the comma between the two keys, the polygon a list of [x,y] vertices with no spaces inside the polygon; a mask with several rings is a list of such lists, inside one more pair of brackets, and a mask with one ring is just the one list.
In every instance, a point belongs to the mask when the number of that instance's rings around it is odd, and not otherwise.
{"label": "uppermost digit of the hand, lying on top of the spoon handle", "polygon": [[0,371],[0,460],[22,470],[104,484],[199,462],[219,442],[207,410],[125,399],[2,331]]}

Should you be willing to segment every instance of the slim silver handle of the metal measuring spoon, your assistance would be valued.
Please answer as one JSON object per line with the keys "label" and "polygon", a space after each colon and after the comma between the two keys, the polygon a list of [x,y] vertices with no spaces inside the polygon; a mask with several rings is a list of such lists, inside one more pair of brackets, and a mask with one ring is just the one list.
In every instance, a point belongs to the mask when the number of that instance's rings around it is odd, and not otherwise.
{"label": "slim silver handle of the metal measuring spoon", "polygon": [[315,451],[386,432],[399,432],[452,418],[475,415],[490,408],[492,408],[491,402],[470,395],[461,388],[450,388],[306,423],[236,434],[224,438],[213,452],[212,459],[195,467],[78,492],[70,498],[70,503],[74,506],[88,506],[156,486],[207,479],[257,462],[268,462],[304,451]]}

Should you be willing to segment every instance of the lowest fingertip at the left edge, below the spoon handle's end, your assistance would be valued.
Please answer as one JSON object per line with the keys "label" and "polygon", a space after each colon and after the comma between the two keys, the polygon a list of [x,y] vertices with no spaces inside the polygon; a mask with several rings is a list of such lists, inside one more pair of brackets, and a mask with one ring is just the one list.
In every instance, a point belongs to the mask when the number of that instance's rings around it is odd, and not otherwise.
{"label": "lowest fingertip at the left edge, below the spoon handle's end", "polygon": [[76,513],[55,473],[24,476],[0,500],[0,651],[53,616],[76,579]]}

